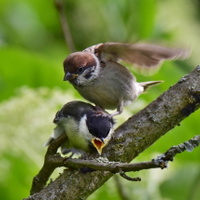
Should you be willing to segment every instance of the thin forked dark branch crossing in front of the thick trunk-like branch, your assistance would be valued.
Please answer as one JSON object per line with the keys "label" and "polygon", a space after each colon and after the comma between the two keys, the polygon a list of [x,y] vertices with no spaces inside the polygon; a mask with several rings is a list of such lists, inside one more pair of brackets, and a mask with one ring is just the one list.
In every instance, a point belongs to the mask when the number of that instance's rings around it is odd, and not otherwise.
{"label": "thin forked dark branch crossing in front of the thick trunk-like branch", "polygon": [[[144,169],[151,168],[161,168],[164,169],[168,166],[169,161],[173,161],[173,158],[177,153],[187,151],[192,151],[194,148],[200,145],[200,135],[195,136],[193,139],[186,141],[177,146],[171,147],[166,153],[158,156],[156,159],[152,159],[150,162],[141,163],[120,163],[120,162],[110,162],[105,158],[96,160],[83,160],[83,159],[72,159],[63,158],[56,153],[56,149],[59,147],[64,136],[60,136],[58,140],[50,145],[45,156],[45,164],[43,165],[39,174],[33,179],[33,185],[31,193],[39,192],[45,186],[46,182],[56,167],[67,167],[73,169],[80,169],[82,167],[87,167],[90,169],[98,171],[110,171],[112,173],[119,173],[123,178],[130,181],[140,181],[140,178],[130,178],[125,175],[125,172],[140,171]],[[53,151],[52,151],[53,149]],[[46,177],[46,178],[45,178]]]}

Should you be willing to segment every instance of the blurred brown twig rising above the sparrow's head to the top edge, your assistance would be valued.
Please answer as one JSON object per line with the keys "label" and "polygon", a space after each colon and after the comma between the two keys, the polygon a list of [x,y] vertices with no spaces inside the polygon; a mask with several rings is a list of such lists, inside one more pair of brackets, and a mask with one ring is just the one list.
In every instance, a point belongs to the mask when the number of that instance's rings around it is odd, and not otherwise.
{"label": "blurred brown twig rising above the sparrow's head to the top edge", "polygon": [[59,18],[60,18],[60,23],[61,23],[61,27],[62,27],[62,31],[63,31],[63,34],[64,34],[66,45],[68,46],[70,52],[74,52],[75,47],[74,47],[74,43],[73,43],[72,36],[71,36],[71,33],[70,33],[67,18],[65,16],[63,1],[62,0],[55,0],[55,7],[58,11],[58,15],[59,15]]}

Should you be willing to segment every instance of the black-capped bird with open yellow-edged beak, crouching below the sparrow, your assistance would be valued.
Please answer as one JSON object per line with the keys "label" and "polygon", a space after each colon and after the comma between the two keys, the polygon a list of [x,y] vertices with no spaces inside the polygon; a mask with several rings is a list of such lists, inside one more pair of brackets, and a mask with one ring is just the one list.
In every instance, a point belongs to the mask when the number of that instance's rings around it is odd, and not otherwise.
{"label": "black-capped bird with open yellow-edged beak, crouching below the sparrow", "polygon": [[57,126],[44,146],[49,146],[53,140],[65,134],[67,139],[61,145],[63,154],[83,154],[96,149],[101,155],[114,133],[113,118],[82,101],[66,103],[56,113],[53,123]]}

